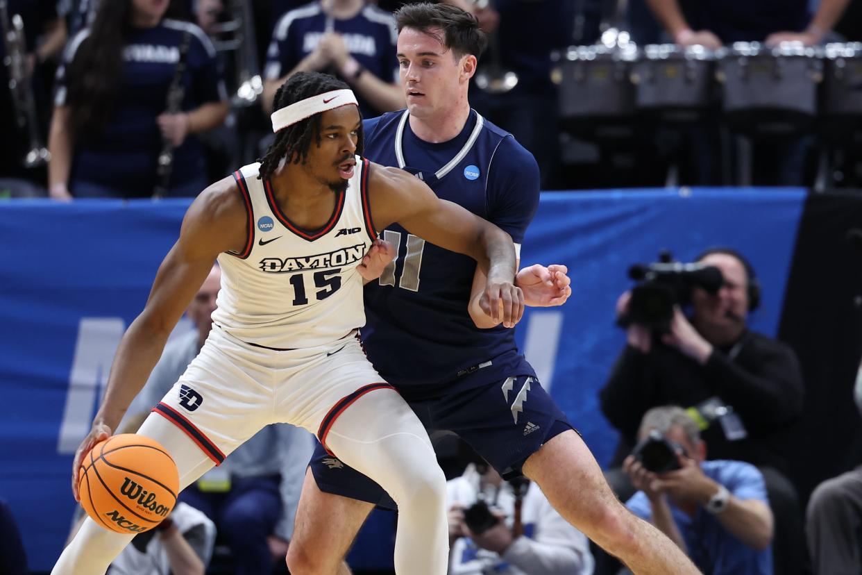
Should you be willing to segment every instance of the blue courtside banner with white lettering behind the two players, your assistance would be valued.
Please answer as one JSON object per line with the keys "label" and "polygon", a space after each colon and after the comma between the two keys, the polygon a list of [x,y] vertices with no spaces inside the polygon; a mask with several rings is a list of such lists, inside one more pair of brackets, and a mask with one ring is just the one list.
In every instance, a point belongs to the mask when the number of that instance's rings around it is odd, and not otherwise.
{"label": "blue courtside banner with white lettering behind the two players", "polygon": [[[616,434],[597,392],[623,345],[615,302],[628,267],[667,249],[745,253],[763,285],[753,328],[775,334],[802,189],[551,192],[542,197],[522,264],[569,266],[562,308],[529,310],[519,345],[601,463]],[[0,498],[13,510],[30,568],[59,556],[75,503],[72,453],[89,430],[111,359],[176,241],[187,200],[22,200],[0,204]]]}

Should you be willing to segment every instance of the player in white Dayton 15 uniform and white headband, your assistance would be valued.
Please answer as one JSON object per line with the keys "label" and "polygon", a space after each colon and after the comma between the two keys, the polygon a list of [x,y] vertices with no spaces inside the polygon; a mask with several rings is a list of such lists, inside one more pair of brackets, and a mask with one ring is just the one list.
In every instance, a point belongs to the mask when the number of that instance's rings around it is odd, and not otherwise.
{"label": "player in white Dayton 15 uniform and white headband", "polygon": [[[511,327],[523,312],[514,246],[409,173],[362,159],[347,84],[299,73],[279,89],[275,108],[276,141],[261,163],[210,185],[186,213],[145,309],[117,347],[103,403],[75,455],[72,491],[79,499],[84,454],[116,428],[217,258],[214,327],[139,433],[171,453],[182,489],[269,423],[306,428],[397,502],[399,575],[442,575],[446,481],[422,423],[359,345],[362,274],[369,271],[357,266],[364,267],[378,227],[399,222],[476,259],[488,276],[482,308]],[[88,518],[53,573],[104,573],[132,537]]]}

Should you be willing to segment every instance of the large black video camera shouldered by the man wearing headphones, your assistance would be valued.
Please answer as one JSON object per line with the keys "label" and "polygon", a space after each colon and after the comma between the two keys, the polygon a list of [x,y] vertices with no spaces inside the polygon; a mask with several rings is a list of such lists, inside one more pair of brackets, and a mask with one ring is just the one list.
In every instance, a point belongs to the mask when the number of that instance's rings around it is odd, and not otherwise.
{"label": "large black video camera shouldered by the man wearing headphones", "polygon": [[674,261],[669,252],[659,253],[659,261],[648,266],[631,266],[628,277],[640,283],[632,290],[628,313],[617,323],[622,327],[636,323],[659,333],[670,329],[675,305],[691,303],[692,288],[715,295],[724,284],[717,267],[683,264]]}

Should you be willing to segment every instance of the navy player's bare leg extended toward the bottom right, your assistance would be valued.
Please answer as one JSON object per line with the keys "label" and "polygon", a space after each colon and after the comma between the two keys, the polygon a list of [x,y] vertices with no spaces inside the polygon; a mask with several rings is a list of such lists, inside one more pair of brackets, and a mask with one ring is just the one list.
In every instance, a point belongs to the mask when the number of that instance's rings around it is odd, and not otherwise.
{"label": "navy player's bare leg extended toward the bottom right", "polygon": [[561,516],[635,573],[698,573],[679,547],[617,500],[590,449],[572,429],[531,455],[523,472]]}

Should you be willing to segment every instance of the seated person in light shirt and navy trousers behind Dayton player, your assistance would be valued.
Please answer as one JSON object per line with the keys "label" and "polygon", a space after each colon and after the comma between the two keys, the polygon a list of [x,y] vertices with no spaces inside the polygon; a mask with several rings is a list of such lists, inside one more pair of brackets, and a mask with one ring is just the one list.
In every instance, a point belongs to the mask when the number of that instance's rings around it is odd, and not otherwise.
{"label": "seated person in light shirt and navy trousers behind Dayton player", "polygon": [[[221,269],[213,266],[186,311],[195,329],[167,344],[130,412],[151,409],[167,393],[182,393],[172,388],[209,335],[221,278]],[[314,446],[304,429],[266,426],[180,494],[180,501],[215,522],[234,556],[235,573],[269,573],[273,561],[284,561]]]}

